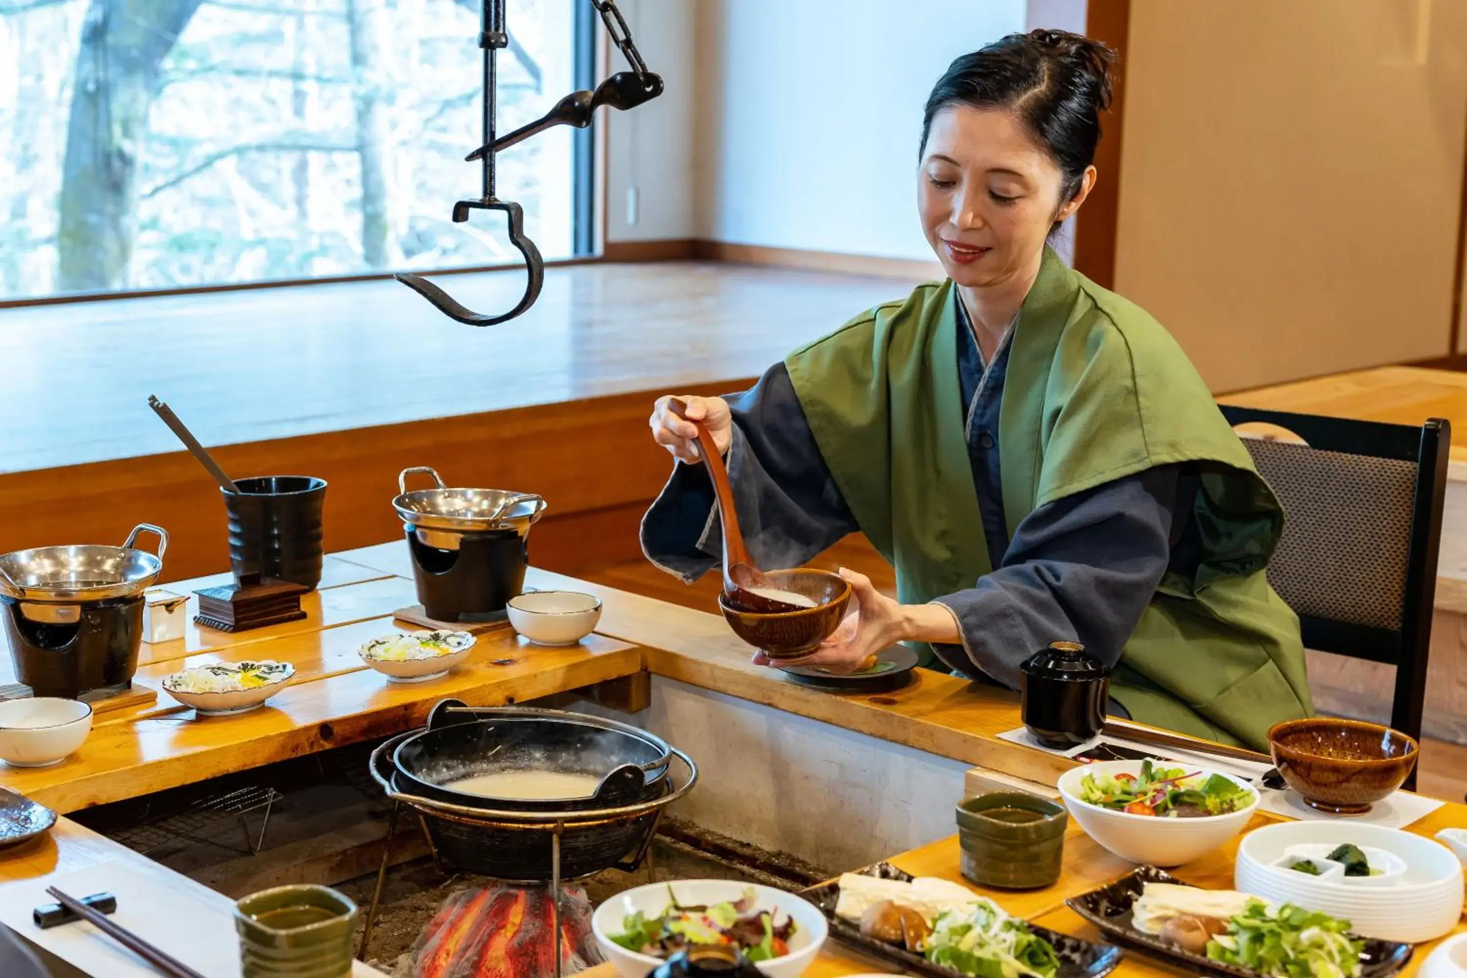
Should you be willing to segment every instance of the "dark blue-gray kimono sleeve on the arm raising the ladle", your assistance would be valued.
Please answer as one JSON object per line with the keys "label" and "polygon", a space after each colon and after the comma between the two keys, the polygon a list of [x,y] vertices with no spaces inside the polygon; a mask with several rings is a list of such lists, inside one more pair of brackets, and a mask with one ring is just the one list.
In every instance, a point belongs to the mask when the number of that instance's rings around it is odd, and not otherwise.
{"label": "dark blue-gray kimono sleeve on the arm raising the ladle", "polygon": [[[734,507],[750,556],[760,567],[798,567],[857,532],[805,422],[783,364],[726,397],[734,440],[725,462]],[[691,584],[723,557],[723,526],[713,481],[701,465],[673,465],[672,477],[641,523],[643,553]]]}

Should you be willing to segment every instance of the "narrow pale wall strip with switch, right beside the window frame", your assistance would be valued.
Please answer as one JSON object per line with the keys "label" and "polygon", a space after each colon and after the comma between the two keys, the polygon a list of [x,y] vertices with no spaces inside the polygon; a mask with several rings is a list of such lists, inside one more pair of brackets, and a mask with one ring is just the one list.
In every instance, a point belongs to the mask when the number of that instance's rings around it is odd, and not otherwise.
{"label": "narrow pale wall strip with switch, right beside the window frame", "polygon": [[[694,6],[703,0],[618,0],[647,67],[662,75],[662,95],[632,109],[601,109],[606,126],[606,229],[609,242],[692,238]],[[599,35],[604,29],[597,23]],[[612,72],[626,70],[615,47]],[[637,191],[628,220],[628,189]]]}

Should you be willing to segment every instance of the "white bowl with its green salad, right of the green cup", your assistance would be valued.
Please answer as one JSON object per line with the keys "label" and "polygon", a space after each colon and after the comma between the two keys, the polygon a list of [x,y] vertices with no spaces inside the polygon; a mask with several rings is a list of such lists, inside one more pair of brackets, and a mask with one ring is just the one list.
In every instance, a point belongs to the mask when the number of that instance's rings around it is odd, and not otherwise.
{"label": "white bowl with its green salad, right of the green cup", "polygon": [[[1226,845],[1259,806],[1253,786],[1231,774],[1150,761],[1086,764],[1065,771],[1058,787],[1086,834],[1122,859],[1155,867],[1178,867]],[[1157,801],[1144,814],[1137,801],[1150,799]]]}

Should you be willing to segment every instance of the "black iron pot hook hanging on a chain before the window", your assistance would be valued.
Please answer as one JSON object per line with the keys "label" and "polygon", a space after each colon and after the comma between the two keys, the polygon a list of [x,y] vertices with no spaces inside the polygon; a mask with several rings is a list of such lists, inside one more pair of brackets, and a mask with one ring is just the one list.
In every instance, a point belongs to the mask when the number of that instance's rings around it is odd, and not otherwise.
{"label": "black iron pot hook hanging on a chain before the window", "polygon": [[584,129],[591,125],[597,107],[632,109],[662,94],[662,78],[647,70],[645,62],[632,43],[631,31],[616,0],[591,0],[591,6],[601,15],[612,41],[621,48],[631,65],[631,72],[621,72],[603,81],[594,92],[572,92],[562,98],[555,109],[537,122],[521,126],[515,132],[494,138],[494,113],[497,106],[496,72],[497,54],[500,48],[509,47],[509,34],[505,29],[505,0],[484,0],[480,16],[478,45],[484,50],[484,142],[468,155],[469,160],[480,160],[484,173],[484,196],[477,201],[459,201],[453,205],[453,223],[462,224],[468,220],[471,210],[505,211],[509,223],[509,243],[525,257],[525,293],[509,312],[487,315],[474,312],[447,292],[433,284],[427,279],[408,271],[393,274],[393,279],[403,283],[424,299],[436,305],[445,315],[467,323],[468,326],[494,326],[505,323],[534,305],[540,298],[540,287],[544,284],[546,262],[540,257],[540,249],[525,235],[525,213],[519,204],[502,201],[494,195],[494,155],[516,142],[550,129],[552,126],[575,126]]}

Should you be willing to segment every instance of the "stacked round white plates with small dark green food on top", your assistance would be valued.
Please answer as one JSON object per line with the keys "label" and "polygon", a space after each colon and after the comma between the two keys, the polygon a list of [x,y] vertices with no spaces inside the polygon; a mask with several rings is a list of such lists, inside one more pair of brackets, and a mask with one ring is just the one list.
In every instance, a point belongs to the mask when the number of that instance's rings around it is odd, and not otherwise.
{"label": "stacked round white plates with small dark green food on top", "polygon": [[[1380,872],[1329,872],[1323,856],[1347,842]],[[1291,869],[1298,859],[1311,859],[1326,874]],[[1449,934],[1463,913],[1463,865],[1451,850],[1400,828],[1347,821],[1297,821],[1248,833],[1238,843],[1234,886],[1347,919],[1364,937],[1411,944]]]}

